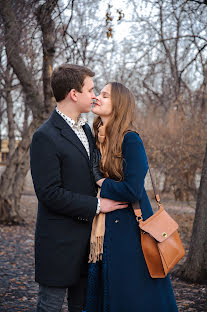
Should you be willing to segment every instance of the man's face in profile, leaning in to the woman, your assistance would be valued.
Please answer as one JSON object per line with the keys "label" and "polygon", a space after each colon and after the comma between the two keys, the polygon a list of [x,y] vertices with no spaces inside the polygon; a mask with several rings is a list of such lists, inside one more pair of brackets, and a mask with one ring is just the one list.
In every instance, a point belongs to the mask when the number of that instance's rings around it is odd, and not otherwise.
{"label": "man's face in profile, leaning in to the woman", "polygon": [[77,92],[77,108],[80,113],[88,113],[91,110],[93,104],[94,94],[94,83],[91,77],[87,76],[84,79],[82,92]]}

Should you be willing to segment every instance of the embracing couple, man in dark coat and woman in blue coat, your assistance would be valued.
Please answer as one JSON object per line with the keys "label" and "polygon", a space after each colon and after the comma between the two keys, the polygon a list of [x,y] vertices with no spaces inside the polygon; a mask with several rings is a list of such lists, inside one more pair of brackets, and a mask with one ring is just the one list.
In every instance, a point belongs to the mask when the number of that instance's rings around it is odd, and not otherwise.
{"label": "embracing couple, man in dark coat and woman in blue coat", "polygon": [[[169,277],[149,275],[132,209],[139,200],[144,219],[152,215],[133,94],[111,82],[96,97],[93,76],[54,70],[57,106],[32,139],[36,311],[61,311],[67,294],[70,312],[176,312]],[[81,113],[94,99],[93,135]]]}

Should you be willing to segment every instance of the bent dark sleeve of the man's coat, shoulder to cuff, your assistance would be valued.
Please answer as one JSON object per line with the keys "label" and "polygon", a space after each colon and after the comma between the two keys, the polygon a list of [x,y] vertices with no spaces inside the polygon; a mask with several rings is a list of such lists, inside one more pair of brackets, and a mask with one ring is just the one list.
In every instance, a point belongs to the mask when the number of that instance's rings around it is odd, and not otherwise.
{"label": "bent dark sleeve of the man's coat, shoulder to cuff", "polygon": [[[64,189],[61,181],[61,159],[52,140],[41,131],[35,132],[30,147],[31,174],[38,200],[54,213],[92,219],[97,198]],[[91,221],[91,220],[90,220]]]}

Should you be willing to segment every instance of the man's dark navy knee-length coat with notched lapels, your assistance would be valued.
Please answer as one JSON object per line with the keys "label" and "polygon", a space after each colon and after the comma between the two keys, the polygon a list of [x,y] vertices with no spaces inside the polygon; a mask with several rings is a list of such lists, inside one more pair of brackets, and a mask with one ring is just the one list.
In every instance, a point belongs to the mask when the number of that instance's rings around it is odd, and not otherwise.
{"label": "man's dark navy knee-length coat with notched lapels", "polygon": [[[94,142],[86,124],[92,155]],[[38,198],[35,280],[69,287],[87,273],[96,186],[91,158],[66,121],[54,111],[34,133],[31,173]]]}

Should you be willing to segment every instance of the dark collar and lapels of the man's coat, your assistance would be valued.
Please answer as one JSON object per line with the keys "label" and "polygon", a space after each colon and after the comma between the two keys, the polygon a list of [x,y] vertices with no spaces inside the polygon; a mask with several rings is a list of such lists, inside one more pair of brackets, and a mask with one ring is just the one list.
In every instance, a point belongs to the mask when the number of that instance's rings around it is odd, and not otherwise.
{"label": "dark collar and lapels of the man's coat", "polygon": [[[77,149],[83,154],[83,156],[87,159],[88,162],[90,162],[90,159],[88,157],[87,151],[85,147],[83,146],[82,142],[78,138],[78,136],[75,134],[75,132],[72,130],[72,128],[67,124],[67,122],[56,112],[56,110],[53,111],[52,115],[50,116],[49,120],[53,123],[53,125],[60,129],[60,133],[62,136],[64,136],[68,141],[70,141],[73,145],[77,147]],[[91,138],[87,129],[87,126],[83,126],[83,130],[86,133],[86,136],[89,141],[89,148],[90,148],[90,156],[92,158],[92,142]]]}

